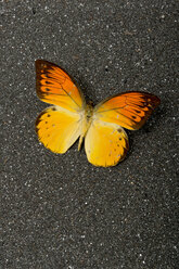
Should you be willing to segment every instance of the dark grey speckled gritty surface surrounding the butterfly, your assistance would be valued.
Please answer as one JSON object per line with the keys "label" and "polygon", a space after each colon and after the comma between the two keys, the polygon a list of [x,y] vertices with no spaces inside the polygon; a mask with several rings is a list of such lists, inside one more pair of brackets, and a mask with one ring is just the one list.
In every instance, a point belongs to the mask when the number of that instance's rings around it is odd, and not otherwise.
{"label": "dark grey speckled gritty surface surrounding the butterfly", "polygon": [[[177,1],[1,1],[0,268],[172,269],[178,254]],[[98,103],[162,100],[125,162],[55,155],[34,124],[35,60],[63,66]]]}

